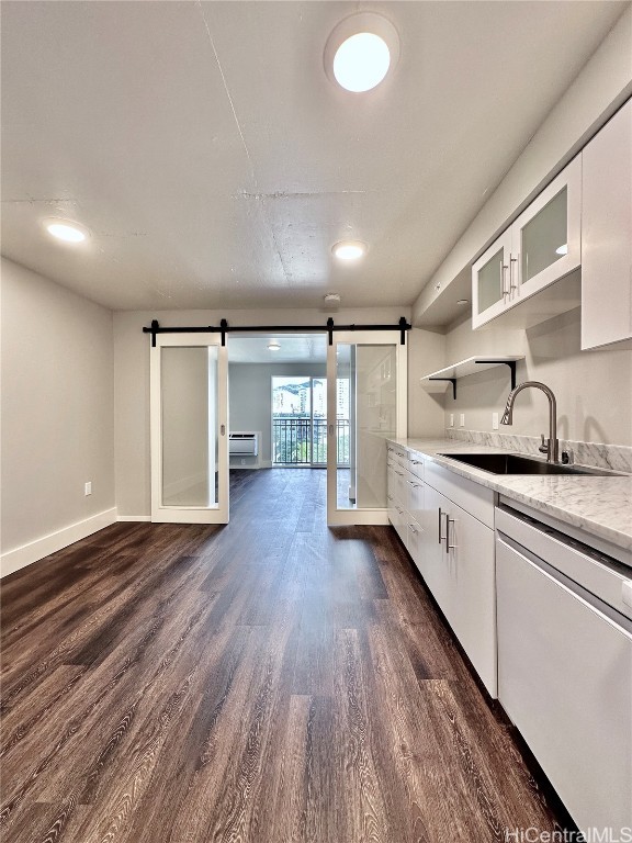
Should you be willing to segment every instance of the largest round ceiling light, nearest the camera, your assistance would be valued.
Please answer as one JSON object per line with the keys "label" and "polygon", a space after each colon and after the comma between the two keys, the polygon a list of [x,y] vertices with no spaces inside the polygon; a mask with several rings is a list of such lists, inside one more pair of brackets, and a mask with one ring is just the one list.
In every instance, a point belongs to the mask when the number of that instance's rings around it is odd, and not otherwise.
{"label": "largest round ceiling light, nearest the camera", "polygon": [[358,12],[340,21],[325,45],[325,72],[352,93],[375,88],[399,58],[399,36],[391,21]]}

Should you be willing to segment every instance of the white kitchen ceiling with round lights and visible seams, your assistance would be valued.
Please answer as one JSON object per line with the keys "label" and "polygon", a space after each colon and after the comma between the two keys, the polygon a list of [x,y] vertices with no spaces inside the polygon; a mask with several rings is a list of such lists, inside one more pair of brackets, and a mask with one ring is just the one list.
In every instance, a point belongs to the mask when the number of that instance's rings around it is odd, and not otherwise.
{"label": "white kitchen ceiling with round lights and visible seams", "polygon": [[[410,304],[624,7],[3,0],[2,251],[113,308]],[[365,94],[358,8],[402,42]]]}

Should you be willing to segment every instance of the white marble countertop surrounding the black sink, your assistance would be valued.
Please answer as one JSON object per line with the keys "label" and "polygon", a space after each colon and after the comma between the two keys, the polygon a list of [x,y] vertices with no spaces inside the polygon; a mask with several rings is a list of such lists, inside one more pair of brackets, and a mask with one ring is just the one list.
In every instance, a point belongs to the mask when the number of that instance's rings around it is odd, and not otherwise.
{"label": "white marble countertop surrounding the black sink", "polygon": [[632,476],[490,474],[442,453],[508,453],[455,439],[390,439],[505,497],[632,550]]}

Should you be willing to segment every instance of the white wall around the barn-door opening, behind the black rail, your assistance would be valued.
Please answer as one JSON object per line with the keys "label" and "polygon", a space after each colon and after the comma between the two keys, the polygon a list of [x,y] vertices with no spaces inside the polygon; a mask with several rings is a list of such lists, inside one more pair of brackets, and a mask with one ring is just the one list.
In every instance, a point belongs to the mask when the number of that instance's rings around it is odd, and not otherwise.
{"label": "white wall around the barn-door opening, behind the black rail", "polygon": [[[150,512],[149,460],[149,338],[143,334],[153,318],[162,325],[218,325],[225,317],[230,325],[318,325],[328,314],[312,311],[133,311],[114,314],[114,428],[116,505],[124,517],[147,517]],[[339,311],[339,325],[397,324],[410,317],[408,307]],[[443,429],[443,408],[426,395],[419,376],[439,366],[444,337],[426,330],[409,335],[409,434],[436,436]],[[442,359],[442,358],[441,358]],[[233,429],[251,429],[230,420]],[[259,429],[259,428],[257,428]]]}

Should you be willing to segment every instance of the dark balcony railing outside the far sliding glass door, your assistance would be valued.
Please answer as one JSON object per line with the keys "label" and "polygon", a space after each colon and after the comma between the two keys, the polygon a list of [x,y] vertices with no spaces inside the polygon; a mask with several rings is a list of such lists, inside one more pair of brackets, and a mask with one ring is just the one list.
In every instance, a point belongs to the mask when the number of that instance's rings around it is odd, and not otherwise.
{"label": "dark balcony railing outside the far sliding glass door", "polygon": [[[336,420],[338,465],[349,465],[349,419]],[[327,419],[273,418],[272,462],[276,465],[325,465]]]}

